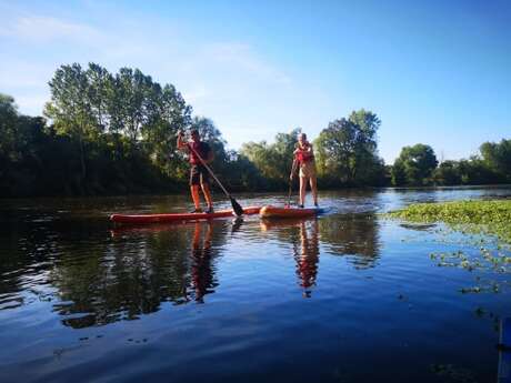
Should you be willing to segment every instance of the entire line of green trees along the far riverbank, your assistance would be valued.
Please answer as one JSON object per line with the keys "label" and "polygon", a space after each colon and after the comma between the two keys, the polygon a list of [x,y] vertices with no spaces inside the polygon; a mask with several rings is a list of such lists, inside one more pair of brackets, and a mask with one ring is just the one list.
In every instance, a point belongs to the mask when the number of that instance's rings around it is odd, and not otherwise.
{"label": "entire line of green trees along the far riverbank", "polygon": [[[186,189],[188,164],[179,130],[198,129],[216,154],[213,168],[234,191],[283,190],[297,144],[295,128],[274,142],[239,151],[213,122],[192,115],[172,85],[138,69],[117,73],[96,63],[61,65],[49,82],[43,117],[19,113],[0,93],[0,195],[98,195]],[[511,182],[511,140],[485,142],[468,160],[439,163],[425,144],[402,149],[392,165],[378,154],[381,125],[371,111],[329,123],[314,140],[320,188],[422,187]]]}

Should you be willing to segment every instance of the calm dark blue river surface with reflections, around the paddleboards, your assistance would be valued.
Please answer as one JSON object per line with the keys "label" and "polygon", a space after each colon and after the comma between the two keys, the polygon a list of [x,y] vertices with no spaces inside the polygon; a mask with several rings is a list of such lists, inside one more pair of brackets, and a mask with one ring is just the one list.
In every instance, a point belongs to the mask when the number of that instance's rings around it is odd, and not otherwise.
{"label": "calm dark blue river surface with reflections, around the paddleboards", "polygon": [[318,219],[139,228],[107,216],[188,196],[0,201],[0,382],[493,382],[508,273],[439,268],[478,244],[377,214],[510,196],[329,192]]}

